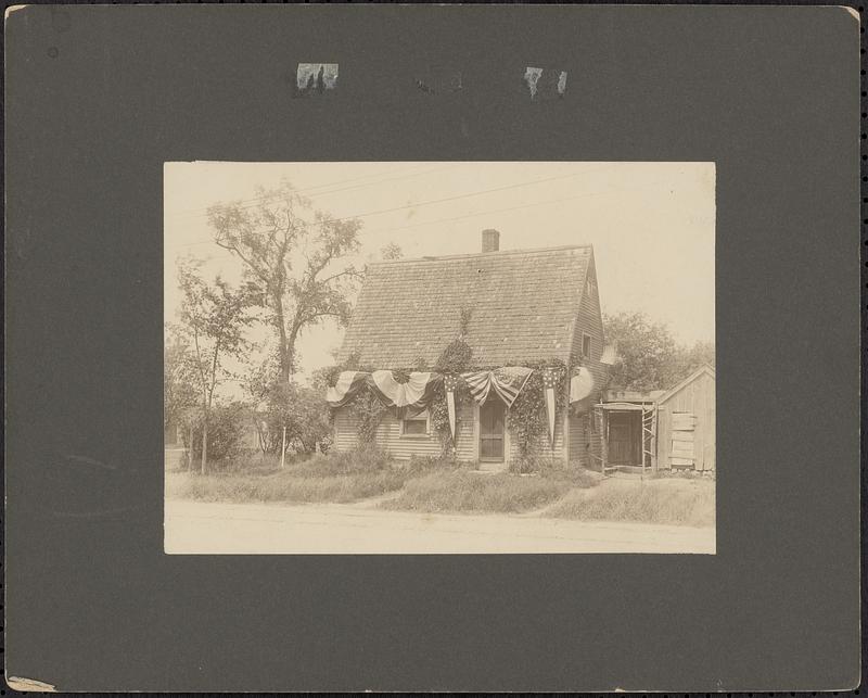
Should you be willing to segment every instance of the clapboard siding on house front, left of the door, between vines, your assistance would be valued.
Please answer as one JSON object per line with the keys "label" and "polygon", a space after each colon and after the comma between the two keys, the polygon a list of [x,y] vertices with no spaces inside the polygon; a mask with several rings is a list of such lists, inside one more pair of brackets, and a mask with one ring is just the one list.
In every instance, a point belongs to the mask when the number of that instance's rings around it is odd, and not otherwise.
{"label": "clapboard siding on house front, left of the door, between vines", "polygon": [[[432,433],[426,436],[401,436],[400,422],[392,414],[386,414],[376,428],[375,443],[385,448],[394,458],[408,460],[411,456],[441,455],[442,444],[439,436],[432,427]],[[460,460],[475,460],[476,428],[474,424],[473,406],[460,405],[456,415],[456,453]],[[335,410],[334,415],[334,447],[336,450],[353,450],[358,445],[358,419],[348,407]]]}

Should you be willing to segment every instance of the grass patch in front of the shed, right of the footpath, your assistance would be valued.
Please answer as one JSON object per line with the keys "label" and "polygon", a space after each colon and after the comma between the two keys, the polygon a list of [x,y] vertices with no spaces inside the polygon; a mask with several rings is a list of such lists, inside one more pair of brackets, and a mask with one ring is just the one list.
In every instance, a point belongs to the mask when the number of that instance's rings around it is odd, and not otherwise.
{"label": "grass patch in front of the shed, right of the footpath", "polygon": [[714,525],[714,483],[609,480],[590,491],[573,490],[546,511],[578,520]]}

